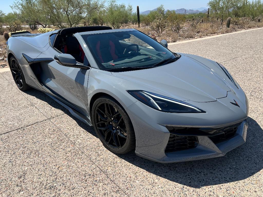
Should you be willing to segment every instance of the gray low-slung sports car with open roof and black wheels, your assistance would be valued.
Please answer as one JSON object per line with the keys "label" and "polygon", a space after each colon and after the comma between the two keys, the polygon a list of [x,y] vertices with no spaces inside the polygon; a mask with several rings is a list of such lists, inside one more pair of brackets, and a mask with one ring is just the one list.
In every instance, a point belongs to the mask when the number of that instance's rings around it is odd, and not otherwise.
{"label": "gray low-slung sports car with open roof and black wheels", "polygon": [[13,33],[18,88],[43,91],[94,127],[115,154],[161,163],[220,157],[246,140],[248,101],[226,68],[173,53],[135,29]]}

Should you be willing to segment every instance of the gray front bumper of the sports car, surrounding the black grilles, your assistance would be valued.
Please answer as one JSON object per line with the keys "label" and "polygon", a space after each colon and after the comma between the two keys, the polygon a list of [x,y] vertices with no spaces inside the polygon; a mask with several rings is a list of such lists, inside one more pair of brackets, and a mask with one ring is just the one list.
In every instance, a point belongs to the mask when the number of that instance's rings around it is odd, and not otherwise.
{"label": "gray front bumper of the sports car, surrounding the black grilles", "polygon": [[[135,153],[143,158],[160,163],[199,160],[225,155],[246,141],[247,110],[236,107],[229,99],[199,103],[207,113],[165,113],[154,110],[137,101],[126,109],[133,122],[136,136]],[[226,100],[227,102],[224,102]],[[222,107],[220,103],[227,103]],[[228,104],[229,103],[229,104]],[[194,103],[191,103],[194,105]],[[218,106],[217,106],[218,105]],[[211,112],[209,109],[213,109]],[[217,109],[217,113],[215,113]],[[240,123],[235,135],[225,141],[213,143],[207,136],[197,136],[198,144],[191,149],[166,152],[170,132],[165,126],[222,128]]]}

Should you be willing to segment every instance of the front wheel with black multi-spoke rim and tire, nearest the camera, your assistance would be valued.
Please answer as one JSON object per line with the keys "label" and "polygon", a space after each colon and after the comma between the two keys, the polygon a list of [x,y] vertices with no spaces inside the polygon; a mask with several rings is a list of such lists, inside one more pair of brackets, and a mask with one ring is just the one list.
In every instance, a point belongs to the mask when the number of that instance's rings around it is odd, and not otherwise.
{"label": "front wheel with black multi-spoke rim and tire, nearest the camera", "polygon": [[98,98],[92,107],[92,122],[103,146],[115,154],[135,149],[135,133],[123,108],[109,96]]}

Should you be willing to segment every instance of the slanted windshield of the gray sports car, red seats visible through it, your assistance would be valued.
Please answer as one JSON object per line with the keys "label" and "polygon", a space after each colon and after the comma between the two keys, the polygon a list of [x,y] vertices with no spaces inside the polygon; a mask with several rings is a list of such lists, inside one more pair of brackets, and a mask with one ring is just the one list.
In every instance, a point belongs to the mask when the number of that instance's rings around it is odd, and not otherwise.
{"label": "slanted windshield of the gray sports car, red seats visible through it", "polygon": [[101,70],[144,69],[161,66],[166,60],[178,58],[163,45],[137,30],[82,37]]}

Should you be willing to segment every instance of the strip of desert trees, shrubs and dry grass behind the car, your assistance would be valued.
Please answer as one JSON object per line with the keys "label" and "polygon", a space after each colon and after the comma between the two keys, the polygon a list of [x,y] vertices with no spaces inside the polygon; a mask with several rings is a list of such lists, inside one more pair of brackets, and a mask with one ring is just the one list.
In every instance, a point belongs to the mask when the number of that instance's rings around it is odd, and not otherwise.
{"label": "strip of desert trees, shrubs and dry grass behind the car", "polygon": [[177,14],[165,11],[161,5],[142,15],[139,7],[118,4],[116,0],[16,0],[11,5],[12,13],[0,11],[0,35],[21,30],[43,33],[64,27],[108,25],[114,29],[135,28],[158,41],[178,42],[263,27],[261,0],[210,0],[208,7],[208,13]]}

